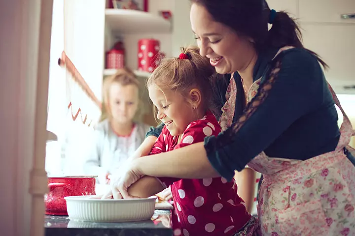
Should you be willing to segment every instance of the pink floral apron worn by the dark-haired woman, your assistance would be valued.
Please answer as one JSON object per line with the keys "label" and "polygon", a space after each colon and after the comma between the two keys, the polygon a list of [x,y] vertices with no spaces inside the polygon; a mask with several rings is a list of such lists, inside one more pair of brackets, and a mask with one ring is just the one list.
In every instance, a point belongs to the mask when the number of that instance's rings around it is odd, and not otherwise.
{"label": "pink floral apron worn by the dark-haired woman", "polygon": [[[248,101],[255,96],[259,84],[260,79],[251,86]],[[349,150],[355,155],[355,149],[348,146],[355,132],[328,86],[344,116],[334,151],[305,161],[271,158],[261,152],[248,163],[264,176],[257,210],[265,236],[355,236],[355,167],[344,154]],[[228,125],[230,106],[231,103],[225,106],[228,109],[221,117]]]}

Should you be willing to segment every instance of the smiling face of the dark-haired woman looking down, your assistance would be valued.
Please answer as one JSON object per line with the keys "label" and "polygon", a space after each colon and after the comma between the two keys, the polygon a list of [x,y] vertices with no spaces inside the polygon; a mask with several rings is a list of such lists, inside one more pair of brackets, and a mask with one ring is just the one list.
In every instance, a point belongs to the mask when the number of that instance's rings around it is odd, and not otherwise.
{"label": "smiling face of the dark-haired woman looking down", "polygon": [[210,59],[217,73],[241,71],[249,65],[255,55],[250,39],[215,22],[207,9],[200,4],[192,4],[190,21],[201,56]]}

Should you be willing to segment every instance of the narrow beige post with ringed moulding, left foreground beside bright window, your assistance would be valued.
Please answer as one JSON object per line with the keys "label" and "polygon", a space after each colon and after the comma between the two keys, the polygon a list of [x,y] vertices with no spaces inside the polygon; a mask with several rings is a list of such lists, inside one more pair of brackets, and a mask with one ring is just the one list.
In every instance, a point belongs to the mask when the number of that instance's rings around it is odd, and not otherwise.
{"label": "narrow beige post with ringed moulding, left foreground beside bright window", "polygon": [[47,138],[46,125],[52,7],[53,0],[41,0],[38,38],[35,150],[30,183],[30,193],[32,194],[31,236],[43,235],[43,195],[48,191],[47,175],[44,171],[44,161],[45,143]]}

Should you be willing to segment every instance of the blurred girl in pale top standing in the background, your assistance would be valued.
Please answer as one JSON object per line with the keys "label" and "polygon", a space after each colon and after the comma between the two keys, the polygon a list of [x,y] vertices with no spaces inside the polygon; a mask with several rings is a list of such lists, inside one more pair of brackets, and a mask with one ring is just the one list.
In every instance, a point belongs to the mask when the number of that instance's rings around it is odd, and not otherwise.
{"label": "blurred girl in pale top standing in the background", "polygon": [[108,183],[109,175],[142,144],[149,126],[134,122],[139,105],[139,81],[129,69],[104,80],[103,113],[87,146],[84,173]]}

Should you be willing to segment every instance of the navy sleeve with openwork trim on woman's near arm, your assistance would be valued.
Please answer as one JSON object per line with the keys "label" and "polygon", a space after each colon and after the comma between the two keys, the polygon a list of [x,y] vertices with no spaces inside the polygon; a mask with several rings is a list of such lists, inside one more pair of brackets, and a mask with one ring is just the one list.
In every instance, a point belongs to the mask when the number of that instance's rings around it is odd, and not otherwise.
{"label": "navy sleeve with openwork trim on woman's near arm", "polygon": [[228,180],[234,170],[243,170],[293,122],[322,103],[325,80],[318,60],[304,49],[291,49],[280,56],[278,75],[261,83],[244,115],[218,137],[205,139],[209,161]]}

